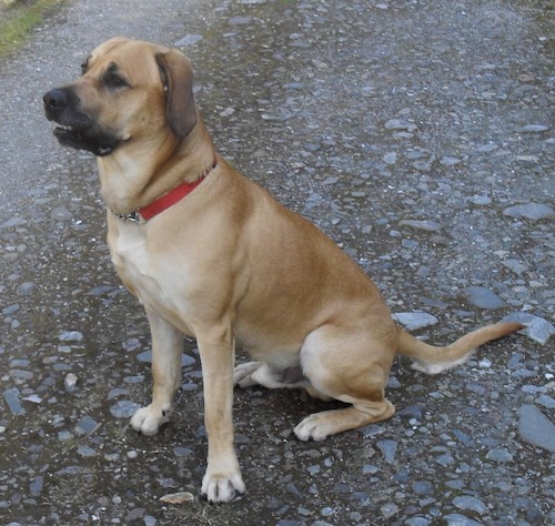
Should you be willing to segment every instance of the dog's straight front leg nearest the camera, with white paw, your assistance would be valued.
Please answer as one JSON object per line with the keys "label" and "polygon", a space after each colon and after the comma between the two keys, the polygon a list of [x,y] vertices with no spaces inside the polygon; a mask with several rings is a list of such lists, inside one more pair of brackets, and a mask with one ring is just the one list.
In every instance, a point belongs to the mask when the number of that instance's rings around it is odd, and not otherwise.
{"label": "dog's straight front leg nearest the camera, with white paw", "polygon": [[232,500],[244,493],[233,444],[233,365],[231,327],[211,327],[198,335],[204,383],[204,423],[208,434],[208,467],[202,494],[213,503]]}

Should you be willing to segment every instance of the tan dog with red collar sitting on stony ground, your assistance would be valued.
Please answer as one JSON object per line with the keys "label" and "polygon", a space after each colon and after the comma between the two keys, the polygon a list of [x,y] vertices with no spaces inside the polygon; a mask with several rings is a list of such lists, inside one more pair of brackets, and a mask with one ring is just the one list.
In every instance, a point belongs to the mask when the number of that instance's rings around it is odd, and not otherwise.
{"label": "tan dog with red collar sitting on stony ground", "polygon": [[[154,386],[131,419],[135,429],[153,435],[168,422],[183,335],[196,337],[209,438],[202,492],[212,502],[245,488],[234,384],[304,387],[350,404],[294,429],[320,441],[393,415],[384,388],[395,355],[438,373],[522,328],[491,325],[446,347],[398,328],[353,261],[218,155],[179,51],[109,40],[79,80],[44,95],[44,108],[62,144],[98,156],[112,261],[149,318]],[[255,361],[233,370],[235,342]]]}

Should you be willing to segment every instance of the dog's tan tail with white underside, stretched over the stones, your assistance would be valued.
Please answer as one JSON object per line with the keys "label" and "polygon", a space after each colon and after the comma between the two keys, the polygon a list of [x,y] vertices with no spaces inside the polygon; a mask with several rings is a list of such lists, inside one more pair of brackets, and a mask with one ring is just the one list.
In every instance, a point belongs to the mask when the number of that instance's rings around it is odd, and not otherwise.
{"label": "dog's tan tail with white underside, stretched over the stones", "polygon": [[445,347],[428,345],[398,328],[397,354],[413,358],[412,367],[427,374],[437,374],[465,362],[477,347],[492,340],[524,328],[521,323],[496,323],[465,334]]}

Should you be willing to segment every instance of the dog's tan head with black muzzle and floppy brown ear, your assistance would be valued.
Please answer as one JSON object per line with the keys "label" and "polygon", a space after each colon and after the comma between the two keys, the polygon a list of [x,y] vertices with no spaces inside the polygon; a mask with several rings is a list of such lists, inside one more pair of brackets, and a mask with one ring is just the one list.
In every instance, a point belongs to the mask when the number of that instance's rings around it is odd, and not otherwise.
{"label": "dog's tan head with black muzzle and floppy brown ear", "polygon": [[44,94],[44,111],[61,144],[104,156],[164,128],[186,136],[198,120],[192,84],[180,51],[114,38],[92,51],[75,82]]}

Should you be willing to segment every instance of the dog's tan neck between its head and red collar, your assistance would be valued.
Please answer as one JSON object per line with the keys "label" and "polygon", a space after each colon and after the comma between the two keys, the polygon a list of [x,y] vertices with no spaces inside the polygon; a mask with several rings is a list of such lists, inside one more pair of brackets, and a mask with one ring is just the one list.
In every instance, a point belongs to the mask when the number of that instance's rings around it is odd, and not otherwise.
{"label": "dog's tan neck between its head and red collar", "polygon": [[[157,154],[145,153],[152,151]],[[199,179],[213,164],[214,155],[202,120],[181,140],[168,130],[154,148],[150,142],[141,149],[131,140],[111,155],[97,159],[102,199],[113,212],[129,214],[180,183]]]}

